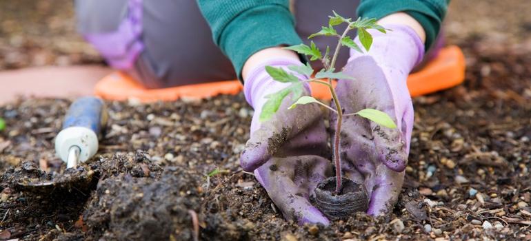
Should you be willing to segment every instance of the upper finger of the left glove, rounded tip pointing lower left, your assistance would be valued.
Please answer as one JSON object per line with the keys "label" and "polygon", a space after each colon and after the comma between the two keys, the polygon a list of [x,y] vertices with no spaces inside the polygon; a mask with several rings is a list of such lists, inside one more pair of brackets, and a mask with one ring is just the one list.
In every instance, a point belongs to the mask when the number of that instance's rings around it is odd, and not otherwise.
{"label": "upper finger of the left glove, rounded tip pointing lower left", "polygon": [[[244,170],[257,169],[272,156],[277,155],[294,136],[322,121],[319,106],[299,105],[294,109],[288,109],[291,103],[290,98],[285,98],[277,113],[269,121],[261,123],[260,128],[251,133],[240,156],[241,167]],[[299,145],[311,147],[315,139],[312,136],[308,140],[303,140]]]}

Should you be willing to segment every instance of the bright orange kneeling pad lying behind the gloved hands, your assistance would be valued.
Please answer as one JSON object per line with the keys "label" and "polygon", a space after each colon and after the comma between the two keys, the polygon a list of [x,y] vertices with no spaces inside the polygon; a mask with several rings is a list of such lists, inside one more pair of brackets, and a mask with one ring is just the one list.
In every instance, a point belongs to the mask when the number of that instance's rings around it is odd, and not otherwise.
{"label": "bright orange kneeling pad lying behind the gloved hands", "polygon": [[[459,47],[452,45],[441,49],[439,55],[422,70],[410,74],[408,88],[411,96],[420,96],[459,85],[464,79],[465,57]],[[325,85],[310,85],[315,98],[330,98],[330,92]],[[114,72],[97,83],[94,94],[114,101],[124,101],[128,98],[137,98],[142,102],[175,101],[183,97],[206,98],[218,94],[238,94],[242,87],[241,83],[235,80],[146,89],[130,76]]]}

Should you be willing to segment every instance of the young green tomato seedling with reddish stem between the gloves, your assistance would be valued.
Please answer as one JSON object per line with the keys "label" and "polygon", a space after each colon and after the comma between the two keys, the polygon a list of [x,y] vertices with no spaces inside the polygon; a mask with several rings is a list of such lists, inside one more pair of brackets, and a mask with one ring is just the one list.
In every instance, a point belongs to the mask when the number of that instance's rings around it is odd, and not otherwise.
{"label": "young green tomato seedling with reddish stem between the gloves", "polygon": [[[293,50],[299,54],[304,54],[305,56],[308,56],[310,58],[310,61],[321,61],[323,63],[324,68],[317,72],[314,78],[310,78],[308,80],[300,80],[299,78],[297,78],[297,76],[286,72],[282,68],[271,66],[265,67],[265,71],[267,71],[268,74],[275,81],[279,81],[282,83],[291,83],[291,85],[277,93],[268,96],[268,101],[266,101],[266,103],[263,105],[263,110],[260,114],[260,121],[267,121],[269,118],[271,118],[271,116],[275,112],[277,112],[281,105],[281,102],[286,96],[288,96],[288,94],[292,94],[292,100],[296,100],[292,105],[290,105],[288,109],[293,109],[297,107],[297,105],[307,105],[310,103],[316,103],[318,105],[322,105],[323,107],[330,109],[331,112],[336,113],[337,122],[335,123],[336,130],[333,139],[333,158],[336,166],[336,192],[341,193],[341,159],[339,155],[339,141],[341,138],[340,133],[343,116],[361,116],[363,118],[369,119],[370,121],[374,121],[374,123],[377,123],[378,125],[388,128],[396,128],[397,125],[395,125],[395,123],[392,121],[392,118],[390,118],[388,114],[385,114],[384,112],[381,112],[377,109],[361,109],[358,112],[350,114],[344,114],[342,112],[337,111],[337,109],[341,109],[341,103],[339,103],[339,99],[337,98],[337,94],[332,85],[332,81],[337,79],[342,79],[344,81],[355,81],[354,78],[352,78],[352,76],[349,76],[348,74],[344,74],[343,72],[335,72],[335,64],[337,56],[339,54],[339,49],[341,48],[341,46],[345,46],[348,48],[352,48],[358,52],[363,52],[361,48],[363,47],[363,49],[369,51],[370,46],[372,45],[372,36],[369,32],[367,32],[367,30],[375,29],[383,33],[385,33],[387,30],[381,25],[378,25],[376,19],[358,18],[356,21],[352,21],[352,19],[346,19],[344,17],[339,16],[339,14],[337,14],[336,12],[333,13],[334,16],[329,17],[330,21],[328,21],[328,27],[322,27],[321,31],[312,34],[308,37],[308,39],[312,39],[314,36],[332,36],[338,38],[337,46],[332,56],[330,56],[330,48],[328,46],[325,50],[325,54],[322,54],[321,50],[317,48],[313,41],[310,42],[310,46],[305,44],[299,44],[285,48],[287,50]],[[348,26],[342,34],[338,34],[337,31],[334,29],[334,26],[341,25],[343,23],[346,23]],[[350,36],[347,35],[348,32],[352,30],[357,30],[359,41],[362,45],[361,47],[357,45],[354,40],[350,39]],[[305,76],[312,76],[312,74],[314,73],[314,70],[312,69],[309,63],[304,66],[292,65],[289,66],[288,69],[292,70],[293,72],[303,74]],[[304,82],[313,82],[326,85],[330,90],[330,94],[332,95],[332,101],[334,103],[335,109],[329,107],[325,103],[322,103],[321,101],[318,101],[316,98],[313,98],[311,96],[302,96]]]}

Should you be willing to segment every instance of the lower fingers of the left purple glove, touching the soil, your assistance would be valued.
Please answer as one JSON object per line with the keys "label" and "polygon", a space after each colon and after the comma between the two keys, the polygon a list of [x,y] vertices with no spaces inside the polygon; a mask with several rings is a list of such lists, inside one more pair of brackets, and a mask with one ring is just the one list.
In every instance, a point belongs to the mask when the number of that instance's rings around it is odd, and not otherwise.
{"label": "lower fingers of the left purple glove, touching the soil", "polygon": [[330,174],[330,163],[319,156],[272,158],[254,171],[271,200],[283,213],[284,218],[297,220],[299,224],[330,221],[309,201],[314,189]]}

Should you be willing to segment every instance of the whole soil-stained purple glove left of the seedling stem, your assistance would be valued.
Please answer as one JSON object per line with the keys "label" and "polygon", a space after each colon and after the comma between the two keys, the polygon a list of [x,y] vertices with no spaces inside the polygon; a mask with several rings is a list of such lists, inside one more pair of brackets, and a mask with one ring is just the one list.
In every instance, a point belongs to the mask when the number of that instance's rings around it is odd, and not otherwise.
{"label": "whole soil-stained purple glove left of the seedling stem", "polygon": [[[323,113],[317,105],[299,105],[288,109],[293,103],[289,94],[277,113],[270,120],[260,123],[261,109],[267,101],[265,96],[289,85],[274,81],[265,72],[265,65],[283,67],[289,71],[286,66],[302,63],[291,59],[266,61],[254,68],[246,78],[244,92],[248,103],[254,107],[254,116],[251,137],[241,154],[241,167],[246,171],[254,171],[284,218],[297,220],[299,224],[328,225],[328,219],[308,200],[314,195],[317,184],[332,173],[330,161],[321,157],[330,153]],[[310,94],[308,85],[305,85],[304,94]]]}

